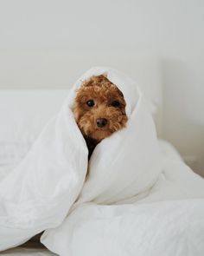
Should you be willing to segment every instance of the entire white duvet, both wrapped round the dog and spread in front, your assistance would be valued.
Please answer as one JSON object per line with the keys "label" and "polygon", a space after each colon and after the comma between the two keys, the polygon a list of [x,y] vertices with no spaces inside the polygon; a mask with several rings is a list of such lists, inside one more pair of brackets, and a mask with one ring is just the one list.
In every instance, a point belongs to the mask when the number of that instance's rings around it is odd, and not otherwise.
{"label": "entire white duvet, both wrapped round the dog and spread in front", "polygon": [[[76,89],[106,74],[127,103],[127,128],[87,148],[73,119]],[[178,164],[179,163],[179,164]],[[161,157],[142,93],[125,75],[91,69],[25,159],[0,181],[0,250],[35,233],[59,255],[203,255],[204,181]]]}

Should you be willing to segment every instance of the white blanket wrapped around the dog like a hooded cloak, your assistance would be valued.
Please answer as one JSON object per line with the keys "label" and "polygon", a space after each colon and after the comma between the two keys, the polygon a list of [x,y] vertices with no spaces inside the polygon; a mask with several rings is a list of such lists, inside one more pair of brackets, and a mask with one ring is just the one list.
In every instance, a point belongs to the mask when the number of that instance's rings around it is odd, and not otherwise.
{"label": "white blanket wrapped around the dog like a hooded cloak", "polygon": [[[124,94],[127,128],[101,141],[89,164],[86,141],[73,118],[76,89],[91,75],[107,75]],[[156,132],[143,95],[118,71],[94,68],[73,86],[29,154],[0,182],[0,248],[59,226],[75,200],[118,203],[143,194],[161,173]]]}

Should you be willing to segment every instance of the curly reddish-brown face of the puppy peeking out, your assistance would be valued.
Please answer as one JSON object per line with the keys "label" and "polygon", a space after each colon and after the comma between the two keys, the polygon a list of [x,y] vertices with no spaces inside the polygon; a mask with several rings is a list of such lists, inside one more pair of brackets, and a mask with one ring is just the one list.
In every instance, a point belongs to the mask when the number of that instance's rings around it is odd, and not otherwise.
{"label": "curly reddish-brown face of the puppy peeking out", "polygon": [[105,75],[92,76],[77,92],[73,115],[83,135],[101,141],[125,127],[122,92]]}

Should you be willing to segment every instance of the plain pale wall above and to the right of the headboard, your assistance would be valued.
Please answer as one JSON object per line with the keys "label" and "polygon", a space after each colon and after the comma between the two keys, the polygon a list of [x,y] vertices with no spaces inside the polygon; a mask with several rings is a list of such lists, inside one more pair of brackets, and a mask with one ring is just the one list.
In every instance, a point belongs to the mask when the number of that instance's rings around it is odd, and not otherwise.
{"label": "plain pale wall above and to the right of the headboard", "polygon": [[21,87],[12,63],[32,69],[30,52],[155,52],[163,63],[165,138],[195,156],[204,174],[203,0],[2,0],[0,33],[0,65],[8,67],[0,88]]}

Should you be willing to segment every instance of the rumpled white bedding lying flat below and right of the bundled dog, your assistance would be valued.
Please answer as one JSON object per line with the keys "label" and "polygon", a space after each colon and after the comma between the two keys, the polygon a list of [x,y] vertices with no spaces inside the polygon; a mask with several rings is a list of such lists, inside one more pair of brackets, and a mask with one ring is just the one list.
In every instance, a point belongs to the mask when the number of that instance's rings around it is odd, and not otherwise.
{"label": "rumpled white bedding lying flat below and right of the bundled dog", "polygon": [[84,204],[42,242],[60,255],[202,256],[203,180],[171,146],[160,146],[163,174],[147,196],[118,206]]}

